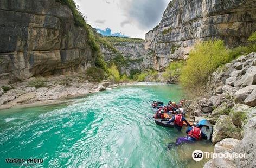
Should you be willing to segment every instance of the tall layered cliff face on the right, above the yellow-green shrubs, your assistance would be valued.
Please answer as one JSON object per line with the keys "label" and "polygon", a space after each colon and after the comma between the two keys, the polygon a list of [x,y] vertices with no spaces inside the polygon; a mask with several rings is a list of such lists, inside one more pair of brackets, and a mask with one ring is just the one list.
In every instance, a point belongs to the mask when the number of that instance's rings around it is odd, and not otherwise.
{"label": "tall layered cliff face on the right, above the yellow-green shrubs", "polygon": [[173,60],[186,59],[197,41],[221,38],[228,46],[246,43],[256,30],[255,9],[253,0],[171,1],[159,25],[146,34],[144,67],[161,70]]}

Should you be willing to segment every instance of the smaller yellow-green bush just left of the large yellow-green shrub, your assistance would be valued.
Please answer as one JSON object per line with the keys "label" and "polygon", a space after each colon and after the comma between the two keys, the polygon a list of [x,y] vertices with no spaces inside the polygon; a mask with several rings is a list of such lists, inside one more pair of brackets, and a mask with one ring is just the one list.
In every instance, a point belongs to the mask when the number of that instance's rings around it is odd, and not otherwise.
{"label": "smaller yellow-green bush just left of the large yellow-green shrub", "polygon": [[180,77],[181,69],[184,66],[185,61],[171,62],[163,73],[164,80],[174,79],[177,80]]}

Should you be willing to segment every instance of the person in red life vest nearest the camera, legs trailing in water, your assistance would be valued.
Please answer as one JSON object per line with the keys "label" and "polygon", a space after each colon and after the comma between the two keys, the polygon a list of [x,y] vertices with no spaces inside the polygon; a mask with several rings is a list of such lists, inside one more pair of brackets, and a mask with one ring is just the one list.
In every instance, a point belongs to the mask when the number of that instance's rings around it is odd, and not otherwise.
{"label": "person in red life vest nearest the camera, legs trailing in water", "polygon": [[179,137],[176,139],[176,146],[184,143],[195,143],[201,139],[207,139],[206,134],[201,131],[200,126],[197,123],[193,123],[192,127],[188,127],[186,133],[188,134],[186,137]]}

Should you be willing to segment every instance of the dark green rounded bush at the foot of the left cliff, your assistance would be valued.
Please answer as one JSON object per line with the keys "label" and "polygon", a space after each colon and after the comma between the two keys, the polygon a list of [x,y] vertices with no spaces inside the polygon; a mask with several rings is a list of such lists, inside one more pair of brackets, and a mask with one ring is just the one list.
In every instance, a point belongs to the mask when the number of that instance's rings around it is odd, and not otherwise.
{"label": "dark green rounded bush at the foot of the left cliff", "polygon": [[98,67],[89,67],[85,74],[89,81],[100,82],[105,79],[105,72],[103,69]]}

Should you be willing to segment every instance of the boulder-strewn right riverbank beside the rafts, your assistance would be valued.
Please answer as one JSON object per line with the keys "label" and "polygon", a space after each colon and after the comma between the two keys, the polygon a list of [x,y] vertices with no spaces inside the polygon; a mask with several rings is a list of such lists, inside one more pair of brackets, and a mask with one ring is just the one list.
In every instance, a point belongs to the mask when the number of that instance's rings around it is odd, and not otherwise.
{"label": "boulder-strewn right riverbank beside the rafts", "polygon": [[[256,167],[256,53],[241,56],[209,77],[208,94],[187,108],[212,124],[215,153],[246,153],[244,159],[212,159],[204,167]],[[227,139],[228,138],[228,139]]]}

